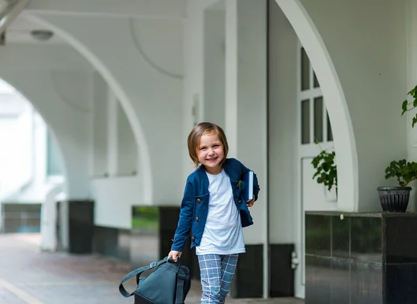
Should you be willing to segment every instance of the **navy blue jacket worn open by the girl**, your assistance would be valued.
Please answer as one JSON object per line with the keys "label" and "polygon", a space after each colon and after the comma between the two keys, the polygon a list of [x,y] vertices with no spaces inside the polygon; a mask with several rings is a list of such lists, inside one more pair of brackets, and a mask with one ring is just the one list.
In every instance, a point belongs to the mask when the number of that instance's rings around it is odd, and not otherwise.
{"label": "navy blue jacket worn open by the girl", "polygon": [[[237,159],[226,159],[223,169],[229,175],[231,189],[234,194],[236,208],[240,211],[242,227],[253,224],[252,216],[245,202],[240,198],[239,181],[250,169],[243,166]],[[254,195],[258,199],[259,185],[254,174]],[[191,229],[191,248],[199,246],[206,225],[208,214],[208,177],[204,166],[199,166],[188,176],[179,214],[178,227],[174,235],[171,250],[183,251],[186,239]]]}

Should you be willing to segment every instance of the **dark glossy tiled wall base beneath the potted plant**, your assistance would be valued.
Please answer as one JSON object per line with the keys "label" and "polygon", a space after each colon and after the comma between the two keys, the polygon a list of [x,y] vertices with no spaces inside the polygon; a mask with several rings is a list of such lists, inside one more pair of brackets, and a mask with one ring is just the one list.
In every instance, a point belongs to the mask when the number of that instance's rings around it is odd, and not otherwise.
{"label": "dark glossy tiled wall base beneath the potted plant", "polygon": [[417,214],[306,212],[306,304],[411,304]]}

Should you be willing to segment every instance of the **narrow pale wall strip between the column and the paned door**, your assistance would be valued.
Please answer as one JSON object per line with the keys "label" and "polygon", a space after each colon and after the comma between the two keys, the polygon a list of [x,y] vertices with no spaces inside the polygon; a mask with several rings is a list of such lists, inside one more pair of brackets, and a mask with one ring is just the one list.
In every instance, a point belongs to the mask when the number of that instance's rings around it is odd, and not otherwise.
{"label": "narrow pale wall strip between the column and the paned door", "polygon": [[295,198],[293,175],[298,138],[297,35],[275,1],[270,1],[268,183],[270,242],[293,243]]}

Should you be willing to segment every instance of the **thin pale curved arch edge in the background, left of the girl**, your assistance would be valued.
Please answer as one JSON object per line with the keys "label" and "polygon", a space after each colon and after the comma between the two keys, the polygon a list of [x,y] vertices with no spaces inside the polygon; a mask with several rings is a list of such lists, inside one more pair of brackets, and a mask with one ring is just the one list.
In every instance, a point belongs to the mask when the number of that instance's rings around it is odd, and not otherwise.
{"label": "thin pale curved arch edge in the background, left of the girl", "polygon": [[136,139],[136,144],[138,147],[138,172],[141,173],[142,176],[142,193],[143,202],[152,202],[153,198],[153,183],[152,183],[152,169],[151,169],[151,161],[149,156],[149,146],[147,144],[147,139],[145,137],[145,132],[140,125],[138,117],[136,116],[136,112],[133,109],[131,100],[124,92],[122,86],[120,85],[119,81],[113,76],[113,74],[108,70],[106,65],[100,61],[95,54],[88,49],[83,43],[77,40],[73,35],[67,33],[63,29],[60,29],[58,26],[51,24],[50,22],[45,21],[42,17],[38,17],[35,15],[27,15],[28,18],[31,18],[34,22],[41,24],[42,26],[54,31],[58,35],[60,35],[63,39],[65,39],[74,49],[79,51],[79,53],[84,56],[95,69],[101,74],[101,76],[106,80],[108,86],[113,90],[115,96],[119,100],[124,113],[126,113],[126,117],[129,120],[131,125],[131,129],[133,130],[133,134]]}

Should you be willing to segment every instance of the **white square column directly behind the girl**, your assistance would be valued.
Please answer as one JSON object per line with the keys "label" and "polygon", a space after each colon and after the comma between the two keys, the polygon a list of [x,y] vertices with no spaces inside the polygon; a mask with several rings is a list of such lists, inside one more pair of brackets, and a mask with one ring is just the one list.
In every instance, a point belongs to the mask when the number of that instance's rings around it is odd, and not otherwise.
{"label": "white square column directly behind the girl", "polygon": [[226,133],[229,156],[254,170],[261,187],[245,243],[263,244],[263,296],[268,297],[266,3],[226,1]]}

